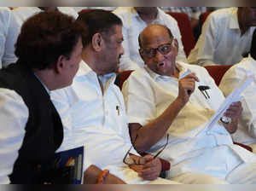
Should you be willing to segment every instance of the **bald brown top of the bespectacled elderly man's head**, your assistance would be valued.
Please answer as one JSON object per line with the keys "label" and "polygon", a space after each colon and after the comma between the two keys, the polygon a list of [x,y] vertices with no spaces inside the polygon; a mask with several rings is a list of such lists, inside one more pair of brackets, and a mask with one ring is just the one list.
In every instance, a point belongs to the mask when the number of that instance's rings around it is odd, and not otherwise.
{"label": "bald brown top of the bespectacled elderly man's head", "polygon": [[140,48],[143,48],[143,46],[147,45],[151,40],[157,41],[159,38],[166,35],[171,39],[173,38],[172,32],[168,27],[163,25],[149,25],[138,37],[139,46]]}

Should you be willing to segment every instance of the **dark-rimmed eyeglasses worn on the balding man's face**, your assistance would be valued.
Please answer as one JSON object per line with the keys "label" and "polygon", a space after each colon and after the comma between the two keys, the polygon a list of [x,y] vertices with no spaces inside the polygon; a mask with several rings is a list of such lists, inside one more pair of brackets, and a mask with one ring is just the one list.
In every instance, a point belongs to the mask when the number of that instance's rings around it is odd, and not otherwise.
{"label": "dark-rimmed eyeglasses worn on the balding man's face", "polygon": [[150,48],[141,48],[140,52],[142,55],[148,57],[148,58],[153,58],[156,55],[156,51],[159,51],[160,54],[162,55],[167,55],[169,54],[172,49],[174,48],[174,39],[172,39],[172,43],[165,43],[160,45],[159,47],[155,49],[150,49]]}

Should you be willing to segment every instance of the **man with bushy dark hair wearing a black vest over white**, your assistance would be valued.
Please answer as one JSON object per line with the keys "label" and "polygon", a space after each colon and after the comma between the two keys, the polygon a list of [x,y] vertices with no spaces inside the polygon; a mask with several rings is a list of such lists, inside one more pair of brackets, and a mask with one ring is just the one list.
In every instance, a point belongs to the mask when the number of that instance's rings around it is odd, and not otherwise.
{"label": "man with bushy dark hair wearing a black vest over white", "polygon": [[[48,15],[48,14],[47,14]],[[54,20],[63,20],[63,22],[51,22],[50,24],[48,23],[49,18],[52,18]],[[35,23],[34,20],[38,20],[40,19],[42,22],[41,23]],[[13,65],[12,67],[18,67],[18,69],[16,70],[17,72],[12,72],[9,71],[10,74],[12,74],[14,76],[14,79],[12,79],[16,84],[20,83],[20,86],[22,87],[22,89],[24,90],[28,90],[30,91],[31,95],[34,96],[38,102],[42,101],[42,98],[45,97],[45,99],[49,100],[49,90],[55,90],[55,89],[60,89],[63,87],[66,87],[69,84],[72,84],[73,81],[73,77],[75,75],[75,72],[77,72],[78,68],[79,68],[79,61],[80,58],[78,57],[78,55],[80,54],[80,52],[82,51],[82,43],[81,40],[79,38],[79,32],[76,32],[75,30],[73,30],[73,34],[68,33],[67,34],[67,28],[69,29],[73,29],[72,27],[74,27],[73,25],[74,20],[70,20],[70,18],[67,17],[67,15],[58,15],[58,14],[49,14],[48,17],[46,17],[45,15],[35,15],[34,18],[32,18],[32,20],[28,20],[26,22],[26,26],[24,30],[23,30],[23,35],[20,36],[20,40],[18,41],[18,45],[17,45],[17,50],[19,51],[19,53],[23,53],[22,51],[20,51],[20,49],[24,49],[24,47],[26,48],[26,50],[28,51],[29,54],[32,54],[33,56],[30,58],[30,61],[32,61],[32,64],[24,64],[24,63],[15,63],[15,66]],[[70,50],[70,55],[71,57],[68,59],[69,62],[63,61],[61,62],[61,65],[64,66],[70,66],[70,67],[66,67],[65,71],[62,70],[61,72],[58,72],[58,74],[56,74],[55,69],[53,69],[52,66],[57,66],[60,63],[57,63],[57,61],[55,62],[50,62],[50,63],[41,63],[40,61],[43,61],[45,58],[47,58],[49,61],[53,61],[52,56],[50,55],[50,53],[53,53],[51,50],[55,49],[56,45],[53,45],[53,48],[50,50],[49,49],[45,52],[45,55],[43,54],[37,54],[38,52],[41,51],[45,51],[44,47],[42,48],[41,46],[38,47],[38,42],[41,42],[42,38],[39,37],[39,35],[37,35],[38,33],[38,29],[40,30],[41,33],[45,33],[45,38],[47,38],[49,40],[49,34],[45,31],[45,28],[43,27],[45,24],[48,24],[49,27],[52,27],[53,29],[55,29],[55,32],[50,34],[50,38],[54,37],[54,38],[60,38],[60,34],[61,33],[65,33],[66,35],[63,36],[62,38],[78,38],[78,42],[77,43],[68,43],[69,46],[74,46],[72,50]],[[62,27],[60,27],[62,26]],[[29,30],[28,28],[32,28],[34,29],[34,31]],[[34,34],[35,33],[35,34]],[[33,43],[33,45],[31,44],[27,44],[26,45],[26,41],[22,41],[22,39],[24,39],[24,36],[27,35],[31,35],[31,42]],[[49,43],[47,39],[43,38],[46,43]],[[60,38],[60,39],[62,39]],[[66,44],[67,42],[65,41],[61,41],[61,44]],[[59,44],[57,44],[59,45]],[[63,55],[67,54],[67,51],[59,51],[58,54],[55,54],[59,57],[61,57],[63,59]],[[19,56],[20,61],[26,61],[27,59],[27,55],[26,54],[20,54]],[[39,60],[39,62],[38,62]],[[56,59],[57,60],[57,59]],[[37,64],[35,65],[34,63]],[[63,65],[64,64],[64,65]],[[67,65],[68,64],[68,65]],[[22,71],[20,71],[19,66],[23,66],[26,65],[26,71],[27,73],[30,73],[29,77],[32,76],[32,78],[28,78],[27,74]],[[28,66],[27,66],[28,65]],[[49,66],[52,67],[52,69],[49,69]],[[31,68],[32,67],[32,68]],[[46,67],[46,69],[44,68]],[[42,69],[43,68],[43,69]],[[70,68],[73,68],[72,70]],[[9,67],[7,68],[7,70],[9,69]],[[1,70],[1,84],[3,84],[5,81],[2,79],[3,78],[3,69]],[[39,71],[39,72],[38,72]],[[52,73],[55,74],[52,74]],[[70,75],[70,78],[68,80],[68,84],[67,84],[67,74]],[[6,74],[4,76],[4,78],[6,78]],[[21,76],[21,77],[20,77]],[[46,79],[47,78],[47,82]],[[21,80],[18,82],[18,80]],[[22,81],[23,80],[23,81]],[[11,81],[13,83],[13,81]],[[37,96],[37,94],[35,94],[33,92],[33,90],[35,91],[36,87],[32,87],[32,84],[35,84],[34,81],[36,81],[36,83],[38,83],[38,87],[36,90],[42,90],[42,92],[45,94],[41,94],[39,96]],[[31,83],[32,82],[32,83]],[[11,83],[10,83],[11,84]],[[21,84],[26,84],[26,85],[21,85]],[[7,83],[8,85],[8,83]],[[31,106],[29,106],[29,104],[27,104],[26,101],[26,97],[23,95],[20,95],[18,90],[14,90],[13,89],[9,89],[7,87],[10,86],[1,86],[0,88],[0,121],[1,121],[1,125],[0,125],[0,130],[1,130],[1,134],[0,134],[0,184],[8,184],[11,182],[11,179],[9,177],[10,174],[12,174],[13,170],[14,170],[14,165],[15,165],[15,161],[16,159],[19,157],[21,151],[20,151],[20,147],[23,145],[24,142],[28,142],[27,141],[27,128],[29,124],[31,123],[32,120],[32,116],[31,113],[29,111],[32,111]],[[40,93],[42,93],[40,91]],[[38,94],[40,94],[38,93]],[[44,100],[45,100],[44,99]],[[38,108],[41,108],[41,110],[44,110],[44,107],[42,107],[42,105],[38,105]],[[49,108],[49,107],[46,107]],[[47,112],[51,112],[50,110]],[[43,121],[45,119],[44,116],[38,114],[37,111],[34,111],[34,113],[36,116],[38,116],[38,119],[36,119],[35,121]],[[46,115],[47,116],[47,115]],[[49,119],[47,118],[49,124],[54,124],[55,119]],[[38,126],[42,125],[42,122],[37,123],[37,125],[34,125],[35,130],[37,131]],[[62,128],[62,126],[61,126]],[[52,130],[53,132],[55,130]],[[35,131],[34,131],[35,132]],[[39,131],[37,131],[39,132]],[[50,135],[40,135],[43,136],[44,138],[49,138],[49,142],[51,141],[55,141],[54,139],[51,139],[50,136],[53,136],[55,134],[50,134]],[[32,135],[34,136],[34,135]],[[30,144],[35,145],[35,142],[30,142]],[[29,144],[27,144],[29,145]],[[29,146],[31,147],[31,146]],[[38,145],[36,145],[36,147],[38,147]],[[42,146],[43,147],[43,146]],[[49,149],[49,148],[45,148],[45,149]],[[57,148],[56,148],[57,149]],[[39,151],[38,151],[39,152]],[[40,151],[42,153],[42,150]],[[32,154],[32,153],[31,153]],[[35,154],[36,155],[36,154]],[[44,154],[45,156],[47,154]],[[40,164],[40,160],[33,160],[33,161],[38,161],[38,164]],[[26,161],[30,162],[29,159],[27,159]],[[27,165],[30,166],[30,165]],[[31,166],[30,166],[31,167]],[[32,167],[31,167],[32,168]],[[29,175],[25,175],[24,173],[22,173],[23,176],[28,177]],[[24,182],[27,183],[27,182]],[[34,182],[34,183],[38,183],[38,182]]]}

